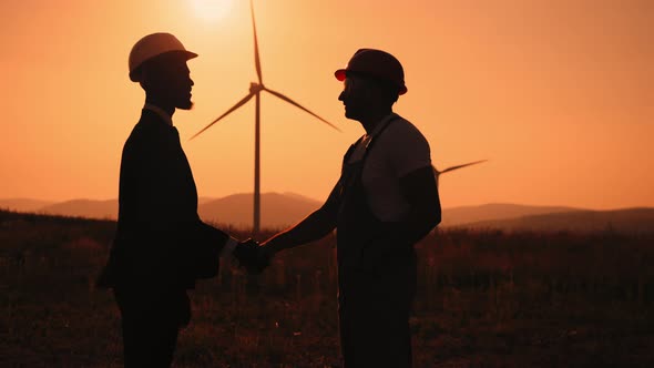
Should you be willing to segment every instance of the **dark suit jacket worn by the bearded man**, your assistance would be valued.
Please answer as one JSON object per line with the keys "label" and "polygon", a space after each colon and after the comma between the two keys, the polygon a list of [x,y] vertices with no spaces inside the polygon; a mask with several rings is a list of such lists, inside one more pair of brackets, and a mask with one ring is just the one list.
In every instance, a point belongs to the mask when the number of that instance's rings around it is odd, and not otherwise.
{"label": "dark suit jacket worn by the bearded man", "polygon": [[227,239],[197,215],[177,130],[144,109],[123,147],[117,228],[98,286],[193,288],[216,275]]}

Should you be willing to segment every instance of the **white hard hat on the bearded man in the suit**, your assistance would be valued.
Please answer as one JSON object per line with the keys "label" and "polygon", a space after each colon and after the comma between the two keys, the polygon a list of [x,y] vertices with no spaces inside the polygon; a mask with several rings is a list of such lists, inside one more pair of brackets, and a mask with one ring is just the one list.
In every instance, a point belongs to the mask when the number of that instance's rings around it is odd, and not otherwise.
{"label": "white hard hat on the bearded man in the suit", "polygon": [[196,53],[186,50],[182,42],[171,33],[147,34],[139,40],[130,52],[130,80],[139,82],[139,75],[134,71],[145,61],[166,52],[181,52],[186,57],[186,60],[197,57]]}

